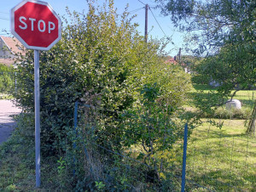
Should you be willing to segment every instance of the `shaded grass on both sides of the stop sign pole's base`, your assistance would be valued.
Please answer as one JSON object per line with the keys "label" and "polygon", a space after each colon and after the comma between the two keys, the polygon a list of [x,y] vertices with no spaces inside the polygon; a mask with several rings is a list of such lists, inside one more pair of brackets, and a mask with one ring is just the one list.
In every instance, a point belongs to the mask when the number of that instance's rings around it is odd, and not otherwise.
{"label": "shaded grass on both sides of the stop sign pole's base", "polygon": [[[18,122],[19,124],[19,122]],[[24,127],[23,127],[24,128]],[[36,189],[33,127],[19,128],[0,145],[0,192],[59,191],[62,176],[58,174],[57,157],[41,155],[41,188]],[[63,189],[70,191],[70,186]]]}

